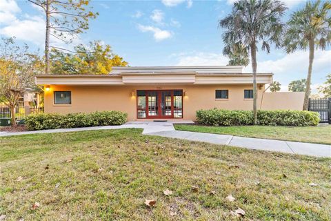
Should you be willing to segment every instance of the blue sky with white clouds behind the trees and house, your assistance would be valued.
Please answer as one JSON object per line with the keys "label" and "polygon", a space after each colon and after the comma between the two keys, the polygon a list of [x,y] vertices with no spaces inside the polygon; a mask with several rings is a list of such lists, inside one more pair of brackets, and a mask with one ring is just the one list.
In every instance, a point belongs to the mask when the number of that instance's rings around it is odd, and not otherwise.
{"label": "blue sky with white clouds behind the trees and house", "polygon": [[[73,45],[101,40],[110,44],[130,66],[226,65],[228,59],[222,55],[223,30],[217,24],[230,12],[233,1],[92,1],[100,15],[90,22],[86,33],[74,39]],[[290,8],[284,21],[305,4],[305,0],[283,1]],[[42,50],[41,12],[28,1],[1,0],[0,36],[16,36],[32,50]],[[307,68],[308,52],[286,55],[275,48],[270,54],[258,52],[258,71],[274,73],[274,80],[281,82],[282,90],[286,90],[290,81],[305,78]],[[244,71],[250,72],[250,66]],[[328,73],[331,73],[331,49],[317,50],[312,88],[323,83]]]}

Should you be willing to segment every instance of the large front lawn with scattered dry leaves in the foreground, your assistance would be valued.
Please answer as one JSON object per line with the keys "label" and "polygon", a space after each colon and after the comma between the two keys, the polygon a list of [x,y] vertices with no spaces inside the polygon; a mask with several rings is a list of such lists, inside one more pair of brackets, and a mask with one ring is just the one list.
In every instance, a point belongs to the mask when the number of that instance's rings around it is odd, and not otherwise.
{"label": "large front lawn with scattered dry leaves in the foreground", "polygon": [[0,164],[6,220],[236,220],[238,207],[243,220],[331,218],[328,158],[123,129],[1,137]]}

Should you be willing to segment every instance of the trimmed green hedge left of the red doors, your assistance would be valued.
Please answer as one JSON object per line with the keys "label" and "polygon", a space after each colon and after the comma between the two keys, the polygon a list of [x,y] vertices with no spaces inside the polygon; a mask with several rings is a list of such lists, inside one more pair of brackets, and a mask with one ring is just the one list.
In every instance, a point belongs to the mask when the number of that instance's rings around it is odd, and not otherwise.
{"label": "trimmed green hedge left of the red doors", "polygon": [[88,126],[121,125],[128,114],[121,111],[97,111],[94,113],[39,113],[28,115],[25,119],[29,131],[75,128]]}

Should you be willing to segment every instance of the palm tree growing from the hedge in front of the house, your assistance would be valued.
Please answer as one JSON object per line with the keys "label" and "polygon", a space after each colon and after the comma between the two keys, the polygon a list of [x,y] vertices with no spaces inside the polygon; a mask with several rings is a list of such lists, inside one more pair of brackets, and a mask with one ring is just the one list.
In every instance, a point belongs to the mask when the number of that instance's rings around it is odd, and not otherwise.
{"label": "palm tree growing from the hedge in front of the house", "polygon": [[257,124],[257,44],[262,50],[270,52],[270,44],[281,46],[281,34],[284,24],[281,17],[286,6],[279,0],[239,0],[234,3],[230,15],[219,21],[225,28],[223,42],[226,48],[241,44],[248,48],[253,71],[253,112],[254,124]]}

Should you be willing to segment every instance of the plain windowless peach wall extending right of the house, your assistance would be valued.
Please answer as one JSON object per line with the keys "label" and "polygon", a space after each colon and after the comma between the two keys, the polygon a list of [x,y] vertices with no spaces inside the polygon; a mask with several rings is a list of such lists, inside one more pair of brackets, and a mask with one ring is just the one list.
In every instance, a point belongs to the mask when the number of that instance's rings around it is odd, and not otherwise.
{"label": "plain windowless peach wall extending right of the house", "polygon": [[301,111],[304,98],[304,92],[264,93],[261,109]]}

